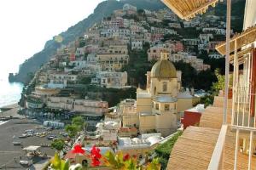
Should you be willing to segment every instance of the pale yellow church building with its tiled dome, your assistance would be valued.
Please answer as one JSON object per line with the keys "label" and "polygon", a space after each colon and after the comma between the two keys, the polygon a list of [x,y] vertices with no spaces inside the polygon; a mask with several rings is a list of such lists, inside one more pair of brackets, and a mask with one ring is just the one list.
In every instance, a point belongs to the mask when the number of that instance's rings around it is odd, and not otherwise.
{"label": "pale yellow church building with its tiled dome", "polygon": [[192,107],[191,95],[179,99],[186,105],[178,105],[181,71],[176,71],[167,58],[168,53],[162,53],[160,61],[147,72],[147,89],[137,89],[137,101],[133,105],[122,105],[123,126],[138,127],[140,133],[161,133],[165,137],[177,130],[177,111]]}

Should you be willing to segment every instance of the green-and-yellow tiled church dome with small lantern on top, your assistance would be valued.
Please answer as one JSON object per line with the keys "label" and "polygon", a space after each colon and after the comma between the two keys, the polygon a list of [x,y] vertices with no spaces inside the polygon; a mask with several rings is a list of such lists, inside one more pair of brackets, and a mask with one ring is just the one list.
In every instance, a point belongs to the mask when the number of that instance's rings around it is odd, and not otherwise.
{"label": "green-and-yellow tiled church dome with small lantern on top", "polygon": [[151,77],[155,78],[177,78],[176,68],[167,60],[167,54],[162,54],[160,61],[157,61],[151,69]]}

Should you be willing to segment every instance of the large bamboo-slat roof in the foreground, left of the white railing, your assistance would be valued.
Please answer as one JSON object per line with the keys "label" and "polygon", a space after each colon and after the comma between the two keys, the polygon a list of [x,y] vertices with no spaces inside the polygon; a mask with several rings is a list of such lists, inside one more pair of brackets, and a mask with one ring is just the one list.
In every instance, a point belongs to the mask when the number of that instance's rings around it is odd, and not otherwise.
{"label": "large bamboo-slat roof in the foreground, left of the white railing", "polygon": [[207,169],[218,133],[218,129],[188,127],[177,139],[166,169]]}

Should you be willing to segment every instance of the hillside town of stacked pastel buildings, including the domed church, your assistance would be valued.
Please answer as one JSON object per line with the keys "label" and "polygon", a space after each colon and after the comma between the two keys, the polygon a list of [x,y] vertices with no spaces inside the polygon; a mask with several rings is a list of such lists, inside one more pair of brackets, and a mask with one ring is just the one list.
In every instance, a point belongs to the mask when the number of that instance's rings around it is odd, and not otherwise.
{"label": "hillside town of stacked pastel buildings, including the domed church", "polygon": [[224,73],[224,55],[215,48],[225,36],[223,16],[181,20],[169,8],[150,11],[126,3],[58,48],[24,88],[19,114],[60,131],[37,138],[48,138],[40,146],[59,150],[72,164],[91,166],[73,152],[80,144],[85,152],[96,146],[102,154],[137,157],[142,165],[159,157],[165,169],[165,144],[198,125],[205,106],[212,105],[209,90]]}

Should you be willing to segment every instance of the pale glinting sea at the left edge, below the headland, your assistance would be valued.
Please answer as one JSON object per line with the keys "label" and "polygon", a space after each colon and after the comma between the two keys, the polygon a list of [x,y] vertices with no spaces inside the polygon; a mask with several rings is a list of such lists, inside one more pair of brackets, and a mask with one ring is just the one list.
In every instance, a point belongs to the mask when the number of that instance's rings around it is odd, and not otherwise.
{"label": "pale glinting sea at the left edge, below the headland", "polygon": [[23,84],[20,82],[9,82],[9,73],[0,75],[0,108],[13,105],[20,100]]}

